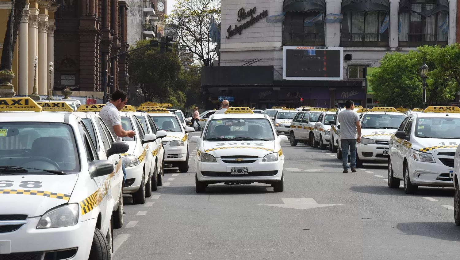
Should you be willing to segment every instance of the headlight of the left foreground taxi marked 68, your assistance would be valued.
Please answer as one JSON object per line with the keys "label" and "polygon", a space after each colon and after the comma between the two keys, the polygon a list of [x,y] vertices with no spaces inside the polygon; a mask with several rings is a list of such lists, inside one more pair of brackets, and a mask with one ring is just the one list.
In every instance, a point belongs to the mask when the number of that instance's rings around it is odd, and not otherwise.
{"label": "headlight of the left foreground taxi marked 68", "polygon": [[78,222],[78,210],[77,203],[66,204],[49,210],[41,216],[37,229],[74,226]]}

